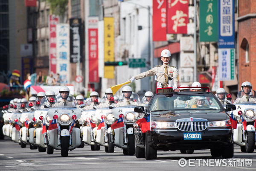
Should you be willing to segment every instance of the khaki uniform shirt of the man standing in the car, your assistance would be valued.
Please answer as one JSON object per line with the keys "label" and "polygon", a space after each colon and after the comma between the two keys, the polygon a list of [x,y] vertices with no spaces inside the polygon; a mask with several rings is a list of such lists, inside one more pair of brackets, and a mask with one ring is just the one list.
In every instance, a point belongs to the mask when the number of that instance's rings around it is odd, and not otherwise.
{"label": "khaki uniform shirt of the man standing in the car", "polygon": [[[157,67],[154,67],[151,70],[148,70],[146,72],[142,72],[135,77],[136,80],[141,79],[141,78],[145,78],[145,77],[149,77],[149,76],[153,76],[156,75],[156,81],[162,84],[166,84],[166,80],[165,80],[165,64],[163,65],[159,65]],[[168,67],[168,75],[169,77],[173,77],[173,84],[177,84],[178,82],[178,70],[176,67],[170,66],[169,64],[167,65]],[[168,84],[168,80],[167,80],[167,84]]]}

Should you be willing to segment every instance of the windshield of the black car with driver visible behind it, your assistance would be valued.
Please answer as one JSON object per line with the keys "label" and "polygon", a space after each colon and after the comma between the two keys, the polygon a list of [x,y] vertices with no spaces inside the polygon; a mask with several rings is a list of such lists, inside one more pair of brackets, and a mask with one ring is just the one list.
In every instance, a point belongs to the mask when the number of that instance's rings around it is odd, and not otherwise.
{"label": "windshield of the black car with driver visible behind it", "polygon": [[161,93],[156,94],[148,110],[157,111],[173,111],[175,113],[195,113],[212,112],[223,109],[221,103],[212,93]]}

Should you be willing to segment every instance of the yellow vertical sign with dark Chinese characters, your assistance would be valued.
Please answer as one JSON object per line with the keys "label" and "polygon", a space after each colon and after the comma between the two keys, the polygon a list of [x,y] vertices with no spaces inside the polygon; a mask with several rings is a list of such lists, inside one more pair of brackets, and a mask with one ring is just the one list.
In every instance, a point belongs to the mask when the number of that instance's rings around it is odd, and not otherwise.
{"label": "yellow vertical sign with dark Chinese characters", "polygon": [[[114,18],[104,17],[104,62],[114,59]],[[104,78],[114,78],[114,66],[104,66]]]}

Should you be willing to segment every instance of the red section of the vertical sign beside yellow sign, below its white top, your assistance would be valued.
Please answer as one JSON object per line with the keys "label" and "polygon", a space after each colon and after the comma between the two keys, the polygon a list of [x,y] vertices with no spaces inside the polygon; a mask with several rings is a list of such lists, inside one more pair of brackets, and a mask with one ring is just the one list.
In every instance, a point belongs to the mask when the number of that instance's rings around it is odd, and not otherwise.
{"label": "red section of the vertical sign beside yellow sign, below its white top", "polygon": [[89,82],[99,82],[98,29],[88,29]]}

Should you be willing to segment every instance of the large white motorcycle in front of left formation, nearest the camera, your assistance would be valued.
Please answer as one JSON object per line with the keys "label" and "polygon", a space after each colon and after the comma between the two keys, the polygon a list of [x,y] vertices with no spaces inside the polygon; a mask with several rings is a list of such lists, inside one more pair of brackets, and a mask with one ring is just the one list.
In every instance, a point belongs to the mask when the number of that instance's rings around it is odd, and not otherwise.
{"label": "large white motorcycle in front of left formation, nearest the camera", "polygon": [[[69,96],[73,99],[73,96]],[[60,96],[56,97],[56,103],[61,101]],[[56,129],[47,130],[49,148],[52,147],[56,150],[61,150],[61,156],[67,157],[68,151],[73,150],[81,145],[81,132],[79,125],[79,119],[81,118],[81,110],[76,108],[75,101],[73,101],[72,107],[61,106],[52,107],[48,110],[47,116],[51,124],[56,122]],[[55,120],[55,121],[53,121]],[[50,149],[49,149],[50,150]],[[48,146],[47,146],[48,153]]]}

